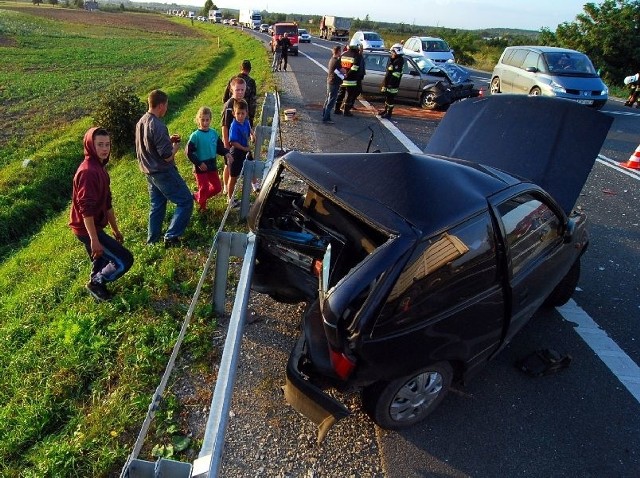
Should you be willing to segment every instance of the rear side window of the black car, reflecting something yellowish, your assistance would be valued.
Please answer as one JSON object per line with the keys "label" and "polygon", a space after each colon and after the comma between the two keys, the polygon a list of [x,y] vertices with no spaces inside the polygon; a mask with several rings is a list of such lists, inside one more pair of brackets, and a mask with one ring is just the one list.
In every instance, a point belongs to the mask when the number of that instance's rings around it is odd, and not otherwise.
{"label": "rear side window of the black car, reflecting something yellowish", "polygon": [[398,321],[411,327],[424,317],[459,307],[499,283],[497,248],[490,214],[484,212],[425,241],[396,281],[376,324],[376,334]]}

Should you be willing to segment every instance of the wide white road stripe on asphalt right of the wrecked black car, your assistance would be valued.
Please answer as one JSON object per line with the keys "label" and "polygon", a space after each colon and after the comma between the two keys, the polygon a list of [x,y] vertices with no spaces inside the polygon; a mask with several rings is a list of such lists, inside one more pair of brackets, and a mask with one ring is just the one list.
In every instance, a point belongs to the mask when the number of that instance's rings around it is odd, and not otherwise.
{"label": "wide white road stripe on asphalt right of the wrecked black car", "polygon": [[573,299],[557,308],[568,322],[576,324],[574,329],[591,347],[600,360],[609,367],[627,390],[640,402],[640,367],[607,335],[607,333],[575,303]]}

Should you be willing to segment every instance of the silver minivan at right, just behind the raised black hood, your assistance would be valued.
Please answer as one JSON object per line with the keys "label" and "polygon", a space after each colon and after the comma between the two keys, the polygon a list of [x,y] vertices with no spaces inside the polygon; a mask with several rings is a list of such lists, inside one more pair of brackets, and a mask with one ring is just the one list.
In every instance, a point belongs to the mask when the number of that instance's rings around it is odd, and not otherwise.
{"label": "silver minivan at right, just behind the raised black hood", "polygon": [[584,53],[550,46],[505,48],[491,75],[491,94],[553,96],[600,109],[609,89]]}

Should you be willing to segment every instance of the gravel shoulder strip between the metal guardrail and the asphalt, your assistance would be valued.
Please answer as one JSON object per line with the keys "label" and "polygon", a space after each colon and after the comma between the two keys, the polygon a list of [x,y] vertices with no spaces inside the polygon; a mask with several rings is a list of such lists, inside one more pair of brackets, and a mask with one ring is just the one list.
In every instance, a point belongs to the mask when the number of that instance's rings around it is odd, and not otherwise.
{"label": "gravel shoulder strip between the metal guardrail and the asphalt", "polygon": [[[296,121],[282,121],[282,147],[318,151],[295,77],[278,75],[283,109],[296,108]],[[252,293],[220,476],[383,477],[376,429],[360,409],[358,394],[340,398],[352,415],[334,425],[323,443],[316,427],[284,400],[289,352],[300,327],[303,304],[283,305]]]}

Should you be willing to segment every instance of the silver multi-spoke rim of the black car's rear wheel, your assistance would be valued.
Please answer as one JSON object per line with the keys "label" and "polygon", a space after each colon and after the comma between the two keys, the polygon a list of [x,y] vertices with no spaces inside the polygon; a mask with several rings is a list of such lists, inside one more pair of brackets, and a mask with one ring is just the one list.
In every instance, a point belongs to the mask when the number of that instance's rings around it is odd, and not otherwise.
{"label": "silver multi-spoke rim of the black car's rear wheel", "polygon": [[422,415],[438,398],[443,387],[442,374],[425,372],[407,381],[393,397],[389,414],[402,422]]}

